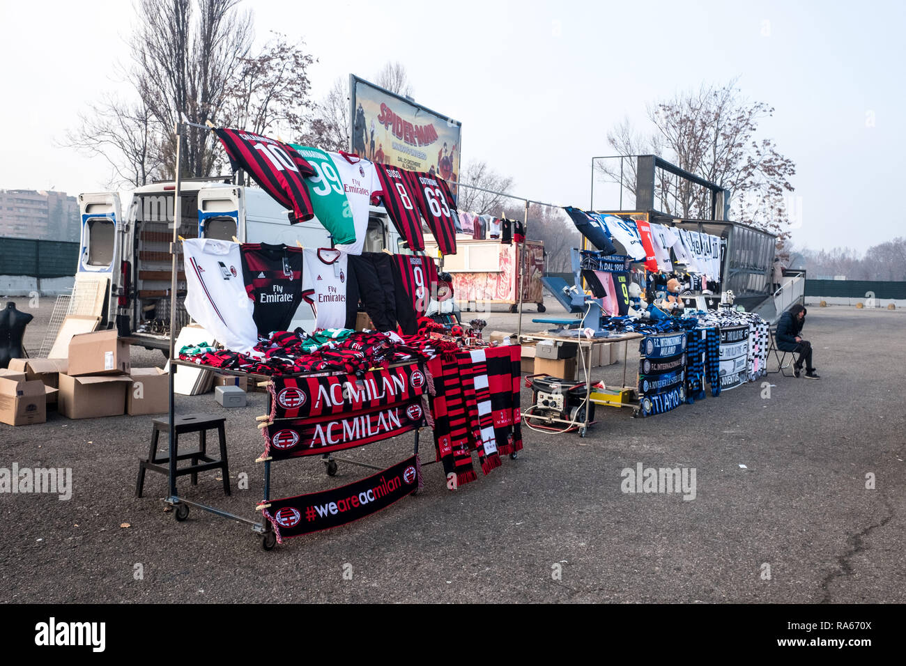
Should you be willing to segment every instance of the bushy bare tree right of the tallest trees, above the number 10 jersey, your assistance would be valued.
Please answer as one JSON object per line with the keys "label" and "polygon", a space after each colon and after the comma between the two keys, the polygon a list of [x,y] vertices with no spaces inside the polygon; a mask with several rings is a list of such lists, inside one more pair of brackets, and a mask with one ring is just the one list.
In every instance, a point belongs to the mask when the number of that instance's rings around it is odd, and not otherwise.
{"label": "bushy bare tree right of the tallest trees, above the number 10 jersey", "polygon": [[258,134],[279,128],[294,139],[303,136],[311,121],[308,69],[314,62],[301,44],[275,33],[260,53],[238,60],[218,121]]}

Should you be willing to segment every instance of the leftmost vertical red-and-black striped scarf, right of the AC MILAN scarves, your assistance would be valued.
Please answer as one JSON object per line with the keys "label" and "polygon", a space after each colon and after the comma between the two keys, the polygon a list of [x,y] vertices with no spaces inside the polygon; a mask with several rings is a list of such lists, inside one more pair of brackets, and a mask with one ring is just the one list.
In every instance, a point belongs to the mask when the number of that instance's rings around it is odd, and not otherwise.
{"label": "leftmost vertical red-and-black striped scarf, right of the AC MILAN scarves", "polygon": [[431,396],[430,407],[434,418],[434,443],[444,475],[455,474],[457,485],[474,481],[472,453],[468,448],[466,402],[459,378],[459,363],[453,359],[435,357],[425,372]]}

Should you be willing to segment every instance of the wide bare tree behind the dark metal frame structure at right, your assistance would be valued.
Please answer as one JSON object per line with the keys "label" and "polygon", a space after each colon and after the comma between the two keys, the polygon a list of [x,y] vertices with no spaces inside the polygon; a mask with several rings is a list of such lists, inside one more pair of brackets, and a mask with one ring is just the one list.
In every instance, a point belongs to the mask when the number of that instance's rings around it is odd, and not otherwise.
{"label": "wide bare tree behind the dark metal frame structure at right", "polygon": [[[648,109],[650,135],[641,135],[629,121],[622,121],[608,133],[608,141],[620,155],[660,155],[727,188],[737,221],[766,229],[782,241],[789,234],[785,197],[793,191],[788,179],[795,174],[795,165],[776,150],[773,140],[757,138],[759,121],[773,115],[774,109],[764,102],[748,101],[736,84],[737,79],[720,87],[702,85],[698,91],[657,102]],[[628,167],[624,183],[634,197],[635,160],[623,160],[623,167]],[[606,179],[617,179],[619,166],[614,163],[596,169]],[[662,170],[656,185],[663,212],[709,217],[707,189]]]}

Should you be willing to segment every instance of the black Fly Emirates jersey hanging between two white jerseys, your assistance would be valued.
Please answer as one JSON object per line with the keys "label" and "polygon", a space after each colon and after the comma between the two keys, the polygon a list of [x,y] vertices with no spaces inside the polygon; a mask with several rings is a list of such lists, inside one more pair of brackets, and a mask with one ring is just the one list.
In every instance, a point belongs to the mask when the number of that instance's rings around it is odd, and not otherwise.
{"label": "black Fly Emirates jersey hanging between two white jerseys", "polygon": [[258,333],[270,337],[273,331],[285,331],[302,301],[302,248],[243,243],[240,249]]}

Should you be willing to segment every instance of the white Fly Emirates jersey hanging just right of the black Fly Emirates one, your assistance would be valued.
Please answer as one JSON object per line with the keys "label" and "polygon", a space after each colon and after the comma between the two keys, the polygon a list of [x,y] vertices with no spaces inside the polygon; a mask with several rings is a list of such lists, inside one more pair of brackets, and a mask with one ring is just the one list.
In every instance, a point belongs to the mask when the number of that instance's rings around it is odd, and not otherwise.
{"label": "white Fly Emirates jersey hanging just right of the black Fly Emirates one", "polygon": [[327,247],[306,247],[303,257],[302,297],[312,306],[315,327],[344,328],[349,280],[346,253]]}

